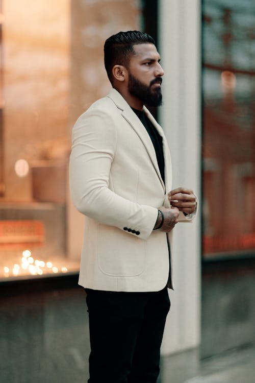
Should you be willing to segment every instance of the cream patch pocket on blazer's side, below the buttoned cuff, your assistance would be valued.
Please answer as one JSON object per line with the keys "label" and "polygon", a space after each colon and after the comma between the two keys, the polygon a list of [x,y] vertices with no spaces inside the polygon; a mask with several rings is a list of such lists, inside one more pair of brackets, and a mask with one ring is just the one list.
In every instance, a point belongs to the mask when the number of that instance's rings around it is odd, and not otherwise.
{"label": "cream patch pocket on blazer's side, below the buttoned cuff", "polygon": [[116,227],[99,225],[98,265],[110,276],[137,276],[145,269],[146,241]]}

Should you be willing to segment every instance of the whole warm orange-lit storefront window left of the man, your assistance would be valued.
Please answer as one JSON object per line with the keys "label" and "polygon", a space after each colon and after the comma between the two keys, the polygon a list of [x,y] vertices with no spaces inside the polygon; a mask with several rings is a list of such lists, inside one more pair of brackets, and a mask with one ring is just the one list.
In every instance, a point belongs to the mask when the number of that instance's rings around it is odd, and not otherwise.
{"label": "whole warm orange-lit storefront window left of the man", "polygon": [[71,130],[110,89],[104,41],[141,17],[139,1],[0,0],[0,280],[78,272]]}

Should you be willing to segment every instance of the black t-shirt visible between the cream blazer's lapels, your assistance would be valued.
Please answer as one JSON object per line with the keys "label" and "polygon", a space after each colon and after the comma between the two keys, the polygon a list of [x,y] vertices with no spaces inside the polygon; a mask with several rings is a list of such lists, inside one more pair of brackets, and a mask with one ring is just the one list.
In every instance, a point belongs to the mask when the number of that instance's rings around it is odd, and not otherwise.
{"label": "black t-shirt visible between the cream blazer's lapels", "polygon": [[144,111],[134,109],[134,108],[132,108],[132,110],[136,113],[141,123],[147,130],[147,133],[151,139],[151,142],[156,152],[156,157],[157,157],[161,177],[163,179],[163,182],[165,183],[165,160],[164,160],[164,153],[163,153],[162,137],[157,131],[157,129],[154,127],[154,125],[152,125],[152,123],[149,121]]}

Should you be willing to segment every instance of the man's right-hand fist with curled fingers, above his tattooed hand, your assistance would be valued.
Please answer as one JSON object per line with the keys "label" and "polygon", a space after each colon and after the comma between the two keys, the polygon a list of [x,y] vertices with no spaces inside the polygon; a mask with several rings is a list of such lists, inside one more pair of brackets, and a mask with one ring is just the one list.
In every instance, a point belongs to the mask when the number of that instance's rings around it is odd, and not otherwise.
{"label": "man's right-hand fist with curled fingers, above his tattooed hand", "polygon": [[184,213],[191,214],[196,209],[196,197],[193,191],[185,187],[177,187],[168,193],[168,200],[171,206],[177,207]]}

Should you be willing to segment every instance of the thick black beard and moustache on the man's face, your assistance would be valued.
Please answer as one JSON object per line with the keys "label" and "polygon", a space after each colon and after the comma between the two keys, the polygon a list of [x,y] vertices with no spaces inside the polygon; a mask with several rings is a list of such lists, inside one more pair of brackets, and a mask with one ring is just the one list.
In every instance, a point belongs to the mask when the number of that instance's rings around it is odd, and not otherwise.
{"label": "thick black beard and moustache on the man's face", "polygon": [[142,101],[143,104],[147,106],[160,106],[162,105],[161,88],[155,87],[153,90],[151,89],[151,85],[158,81],[162,81],[161,77],[152,80],[149,86],[147,86],[129,73],[128,89],[130,94]]}

